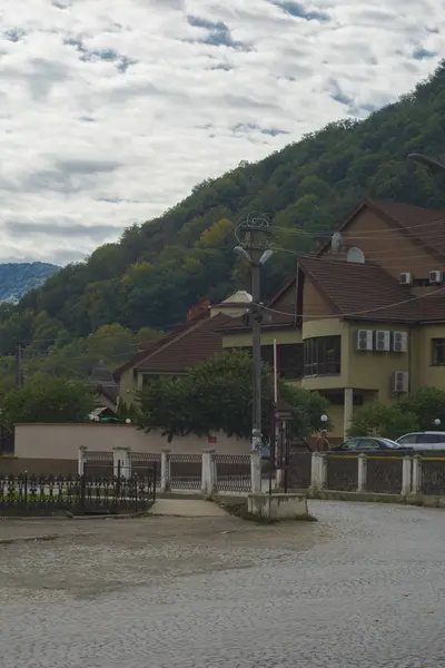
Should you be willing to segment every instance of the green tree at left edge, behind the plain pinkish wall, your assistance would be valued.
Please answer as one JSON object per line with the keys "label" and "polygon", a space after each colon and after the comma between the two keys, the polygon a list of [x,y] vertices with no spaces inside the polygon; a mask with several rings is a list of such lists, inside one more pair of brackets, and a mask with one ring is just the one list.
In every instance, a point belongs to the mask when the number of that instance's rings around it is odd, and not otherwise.
{"label": "green tree at left edge, behind the plain pinkish wall", "polygon": [[0,419],[8,431],[12,431],[13,425],[20,422],[85,422],[93,405],[88,384],[68,379],[48,379],[4,393],[0,399]]}

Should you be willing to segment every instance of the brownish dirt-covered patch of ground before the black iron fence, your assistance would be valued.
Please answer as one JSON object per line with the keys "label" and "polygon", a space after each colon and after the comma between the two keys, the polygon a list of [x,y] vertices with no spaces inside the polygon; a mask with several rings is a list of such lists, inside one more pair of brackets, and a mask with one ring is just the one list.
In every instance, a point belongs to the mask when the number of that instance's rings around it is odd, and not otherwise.
{"label": "brownish dirt-covered patch of ground before the black iron fence", "polygon": [[[113,522],[8,522],[1,533],[27,541],[0,544],[0,588],[89,597],[113,589],[229,569],[249,568],[323,540],[315,525],[257,525],[234,517],[145,518]],[[88,525],[87,525],[88,524]],[[55,530],[58,533],[55,539]],[[36,533],[37,536],[37,533]],[[8,540],[8,537],[1,537]]]}

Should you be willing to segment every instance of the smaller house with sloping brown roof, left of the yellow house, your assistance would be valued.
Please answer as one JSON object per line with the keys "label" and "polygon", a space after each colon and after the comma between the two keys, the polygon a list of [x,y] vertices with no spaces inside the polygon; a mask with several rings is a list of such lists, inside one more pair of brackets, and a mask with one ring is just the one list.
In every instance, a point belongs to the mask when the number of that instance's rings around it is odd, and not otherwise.
{"label": "smaller house with sloping brown roof, left of the yellow house", "polygon": [[188,312],[187,322],[162,338],[142,345],[138,353],[113,373],[119,399],[131,403],[137,390],[150,380],[175,377],[222,351],[221,328],[239,318],[251,296],[239,291],[225,302],[210,306],[202,301]]}

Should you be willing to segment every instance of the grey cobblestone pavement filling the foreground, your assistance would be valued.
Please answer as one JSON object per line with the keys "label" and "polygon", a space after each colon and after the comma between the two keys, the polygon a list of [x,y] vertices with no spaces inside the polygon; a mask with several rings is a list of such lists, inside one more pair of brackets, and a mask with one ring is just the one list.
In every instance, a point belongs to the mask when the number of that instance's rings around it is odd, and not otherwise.
{"label": "grey cobblestone pavement filling the foreground", "polygon": [[310,510],[42,522],[67,534],[0,546],[1,666],[442,668],[445,511]]}

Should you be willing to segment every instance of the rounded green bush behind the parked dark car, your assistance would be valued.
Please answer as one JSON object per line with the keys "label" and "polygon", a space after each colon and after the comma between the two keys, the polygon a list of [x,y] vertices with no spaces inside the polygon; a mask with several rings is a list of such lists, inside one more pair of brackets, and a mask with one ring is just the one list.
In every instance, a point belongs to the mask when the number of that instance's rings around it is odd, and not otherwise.
{"label": "rounded green bush behind the parked dark car", "polygon": [[385,405],[376,401],[354,412],[348,435],[395,440],[418,429],[418,418],[414,412],[405,411],[397,404]]}

